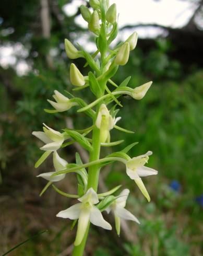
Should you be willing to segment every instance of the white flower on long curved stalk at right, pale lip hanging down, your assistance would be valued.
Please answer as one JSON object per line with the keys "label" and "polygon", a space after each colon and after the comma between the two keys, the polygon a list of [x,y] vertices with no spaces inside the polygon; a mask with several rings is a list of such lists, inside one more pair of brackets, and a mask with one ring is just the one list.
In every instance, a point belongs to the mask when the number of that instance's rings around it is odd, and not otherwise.
{"label": "white flower on long curved stalk at right, pale lip hanging down", "polygon": [[127,175],[130,179],[135,180],[138,188],[141,190],[142,194],[145,195],[148,202],[150,201],[150,196],[140,177],[156,175],[158,173],[158,171],[145,166],[150,155],[152,155],[152,152],[148,151],[145,155],[134,157],[126,162]]}

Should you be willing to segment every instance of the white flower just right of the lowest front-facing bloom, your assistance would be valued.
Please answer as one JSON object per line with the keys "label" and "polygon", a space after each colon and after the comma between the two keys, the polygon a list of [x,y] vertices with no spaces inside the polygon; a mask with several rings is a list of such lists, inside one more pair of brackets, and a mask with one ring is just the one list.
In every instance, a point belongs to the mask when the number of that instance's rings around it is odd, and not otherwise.
{"label": "white flower just right of the lowest front-facing bloom", "polygon": [[124,189],[121,194],[117,196],[117,199],[113,202],[113,204],[106,209],[106,212],[110,213],[110,211],[113,211],[114,213],[115,226],[118,236],[120,235],[121,231],[121,219],[133,220],[134,222],[140,224],[139,220],[125,209],[129,192],[129,189]]}

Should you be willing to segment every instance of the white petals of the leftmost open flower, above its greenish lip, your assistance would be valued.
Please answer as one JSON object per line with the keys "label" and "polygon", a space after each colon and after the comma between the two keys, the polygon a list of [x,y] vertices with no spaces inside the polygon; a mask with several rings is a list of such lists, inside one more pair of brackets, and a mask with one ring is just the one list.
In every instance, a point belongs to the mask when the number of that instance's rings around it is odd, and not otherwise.
{"label": "white petals of the leftmost open flower, above its greenish lip", "polygon": [[45,143],[45,145],[40,149],[51,152],[57,150],[64,142],[63,134],[51,129],[44,123],[43,125],[44,132],[32,132],[35,137],[39,138],[42,142]]}

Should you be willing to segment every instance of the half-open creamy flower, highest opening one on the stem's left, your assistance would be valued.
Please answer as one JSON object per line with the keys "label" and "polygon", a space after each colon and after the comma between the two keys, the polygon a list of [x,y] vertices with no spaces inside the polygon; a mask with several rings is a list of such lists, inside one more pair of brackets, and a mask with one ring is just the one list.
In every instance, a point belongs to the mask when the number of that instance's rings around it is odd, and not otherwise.
{"label": "half-open creamy flower, highest opening one on the stem's left", "polygon": [[77,105],[77,102],[71,101],[69,98],[65,97],[61,92],[54,90],[53,98],[56,102],[52,100],[47,100],[58,112],[63,112]]}

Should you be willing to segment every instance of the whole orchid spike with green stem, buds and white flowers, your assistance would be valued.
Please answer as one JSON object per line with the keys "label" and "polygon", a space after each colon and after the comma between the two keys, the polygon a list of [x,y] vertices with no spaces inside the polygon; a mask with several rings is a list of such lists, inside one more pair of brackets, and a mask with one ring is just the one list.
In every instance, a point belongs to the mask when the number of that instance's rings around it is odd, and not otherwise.
{"label": "whole orchid spike with green stem, buds and white flowers", "polygon": [[[136,48],[138,34],[134,32],[124,42],[112,47],[111,43],[118,33],[116,4],[110,5],[109,0],[90,0],[89,4],[93,10],[82,5],[80,11],[83,19],[88,23],[89,30],[95,37],[97,50],[90,54],[82,46],[78,45],[76,48],[73,43],[65,39],[65,51],[70,60],[80,57],[86,59],[85,67],[91,69],[88,76],[83,76],[82,71],[79,71],[76,65],[71,63],[69,69],[70,83],[76,86],[73,89],[76,93],[78,90],[90,90],[95,100],[88,104],[67,91],[66,93],[71,98],[55,90],[53,95],[55,101],[48,100],[54,109],[45,111],[48,113],[67,111],[68,114],[68,110],[76,106],[78,113],[83,112],[83,114],[87,114],[88,118],[92,119],[92,125],[85,128],[78,127],[80,130],[74,130],[67,127],[57,127],[56,123],[55,129],[61,130],[63,128],[63,133],[60,133],[44,124],[43,132],[32,133],[45,144],[40,148],[44,151],[44,154],[36,162],[35,167],[39,167],[53,152],[55,171],[41,173],[38,176],[48,181],[41,195],[52,182],[62,180],[67,173],[75,172],[77,174],[77,194],[66,193],[52,185],[52,188],[62,196],[77,198],[80,201],[80,203],[57,214],[57,217],[75,220],[73,226],[78,219],[73,256],[83,255],[90,223],[105,229],[111,229],[111,225],[102,216],[103,211],[114,213],[118,235],[120,235],[121,219],[133,220],[139,223],[139,220],[125,209],[129,194],[128,189],[115,196],[114,193],[121,187],[121,185],[117,185],[116,188],[97,194],[102,167],[113,164],[115,161],[122,162],[126,166],[127,175],[130,179],[135,180],[148,201],[150,201],[150,196],[141,177],[158,173],[156,170],[145,166],[152,152],[134,158],[128,156],[128,151],[137,145],[136,142],[128,145],[120,152],[112,153],[100,159],[103,146],[116,146],[124,141],[124,139],[116,142],[111,141],[110,132],[112,133],[113,128],[125,133],[134,133],[116,125],[121,119],[121,117],[116,118],[119,111],[118,107],[123,107],[120,97],[129,95],[133,99],[141,100],[146,96],[152,82],[137,87],[128,85],[130,77],[125,78],[120,85],[114,82],[114,76],[118,68],[127,64],[130,52]],[[68,139],[68,142],[64,143],[65,139]],[[61,147],[68,147],[75,142],[79,143],[84,150],[87,150],[89,162],[83,164],[78,153],[76,153],[76,162],[74,163],[67,163],[66,160],[58,156],[56,150]]]}

